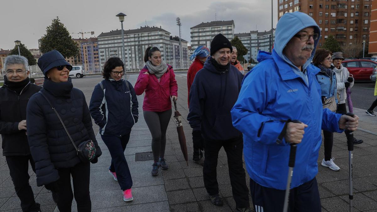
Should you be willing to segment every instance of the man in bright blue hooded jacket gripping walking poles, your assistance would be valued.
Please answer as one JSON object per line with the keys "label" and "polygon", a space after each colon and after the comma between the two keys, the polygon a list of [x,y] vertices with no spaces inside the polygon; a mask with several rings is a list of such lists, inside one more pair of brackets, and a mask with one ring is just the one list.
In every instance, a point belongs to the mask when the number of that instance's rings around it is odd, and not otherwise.
{"label": "man in bright blue hooded jacket gripping walking poles", "polygon": [[233,125],[244,134],[244,158],[257,211],[282,211],[291,143],[297,144],[297,154],[289,210],[321,211],[316,181],[321,128],[357,129],[359,117],[322,109],[316,80],[320,70],[310,64],[319,35],[319,27],[307,14],[284,14],[276,26],[272,54],[259,52],[259,64],[245,76],[231,110]]}

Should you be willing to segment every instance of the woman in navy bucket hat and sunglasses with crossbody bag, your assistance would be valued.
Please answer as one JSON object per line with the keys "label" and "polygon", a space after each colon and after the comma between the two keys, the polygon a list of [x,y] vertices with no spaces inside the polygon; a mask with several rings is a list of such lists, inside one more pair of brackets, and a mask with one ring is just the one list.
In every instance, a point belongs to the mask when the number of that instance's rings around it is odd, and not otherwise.
{"label": "woman in navy bucket hat and sunglasses with crossbody bag", "polygon": [[[33,123],[28,125],[27,133],[30,152],[35,161],[37,186],[44,185],[51,190],[61,212],[71,211],[73,197],[79,212],[90,211],[90,163],[80,161],[61,124],[63,121],[76,146],[89,139],[94,142],[96,157],[90,162],[97,163],[102,152],[93,132],[85,96],[82,91],[73,88],[68,77],[72,66],[60,52],[46,52],[39,58],[38,66],[45,76],[41,89],[43,95],[34,94],[26,109],[26,121]],[[61,121],[47,99],[60,115]]]}

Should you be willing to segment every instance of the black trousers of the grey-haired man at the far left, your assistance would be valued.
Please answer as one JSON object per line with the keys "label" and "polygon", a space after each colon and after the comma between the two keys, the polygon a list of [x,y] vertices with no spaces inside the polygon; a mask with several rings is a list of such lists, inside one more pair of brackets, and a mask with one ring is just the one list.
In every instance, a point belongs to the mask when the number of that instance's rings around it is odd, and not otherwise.
{"label": "black trousers of the grey-haired man at the far left", "polygon": [[9,167],[14,189],[21,201],[22,211],[37,211],[40,206],[35,203],[34,193],[29,185],[29,162],[35,172],[35,163],[31,155],[26,156],[5,156],[6,163]]}

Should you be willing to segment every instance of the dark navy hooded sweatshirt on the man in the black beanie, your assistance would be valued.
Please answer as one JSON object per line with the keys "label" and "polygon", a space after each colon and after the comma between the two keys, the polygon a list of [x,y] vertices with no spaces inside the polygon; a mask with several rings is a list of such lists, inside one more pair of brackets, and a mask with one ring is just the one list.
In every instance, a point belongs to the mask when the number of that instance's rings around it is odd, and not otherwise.
{"label": "dark navy hooded sweatshirt on the man in the black beanie", "polygon": [[201,130],[208,140],[229,140],[241,136],[232,124],[230,110],[236,103],[244,76],[234,66],[218,71],[211,56],[196,73],[190,88],[187,120],[193,130]]}

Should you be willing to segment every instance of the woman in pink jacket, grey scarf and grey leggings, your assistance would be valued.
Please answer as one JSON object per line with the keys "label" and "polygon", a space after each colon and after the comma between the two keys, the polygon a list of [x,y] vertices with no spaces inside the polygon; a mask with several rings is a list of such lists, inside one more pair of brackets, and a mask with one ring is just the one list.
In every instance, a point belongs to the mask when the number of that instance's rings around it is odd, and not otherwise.
{"label": "woman in pink jacket, grey scarf and grey leggings", "polygon": [[140,71],[135,92],[136,95],[141,95],[145,91],[143,114],[152,134],[152,176],[157,176],[160,166],[161,169],[168,169],[164,158],[166,130],[172,117],[170,97],[177,98],[178,86],[173,67],[162,61],[161,52],[157,47],[146,49],[144,61],[146,66]]}

